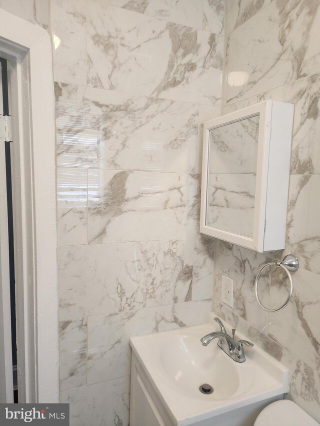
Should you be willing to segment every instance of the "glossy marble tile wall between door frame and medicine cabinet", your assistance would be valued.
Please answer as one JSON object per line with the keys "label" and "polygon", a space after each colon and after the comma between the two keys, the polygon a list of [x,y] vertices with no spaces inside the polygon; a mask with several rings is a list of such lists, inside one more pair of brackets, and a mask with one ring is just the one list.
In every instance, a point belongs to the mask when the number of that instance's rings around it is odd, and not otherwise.
{"label": "glossy marble tile wall between door frame and medicine cabinet", "polygon": [[129,337],[199,324],[202,123],[220,115],[223,1],[51,0],[60,398],[128,425]]}

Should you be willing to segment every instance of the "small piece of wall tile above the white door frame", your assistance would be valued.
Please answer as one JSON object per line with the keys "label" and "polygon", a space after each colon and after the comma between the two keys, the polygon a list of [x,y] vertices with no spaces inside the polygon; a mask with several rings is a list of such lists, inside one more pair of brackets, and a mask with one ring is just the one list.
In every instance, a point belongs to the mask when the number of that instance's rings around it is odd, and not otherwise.
{"label": "small piece of wall tile above the white door frame", "polygon": [[0,8],[47,29],[49,0],[0,0]]}

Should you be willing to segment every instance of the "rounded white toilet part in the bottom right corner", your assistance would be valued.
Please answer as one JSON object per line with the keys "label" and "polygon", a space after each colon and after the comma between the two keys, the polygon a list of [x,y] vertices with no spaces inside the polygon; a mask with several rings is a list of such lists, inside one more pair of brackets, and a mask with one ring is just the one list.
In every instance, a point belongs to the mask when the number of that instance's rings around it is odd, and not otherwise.
{"label": "rounded white toilet part in the bottom right corner", "polygon": [[319,426],[300,407],[289,400],[276,401],[265,407],[254,426]]}

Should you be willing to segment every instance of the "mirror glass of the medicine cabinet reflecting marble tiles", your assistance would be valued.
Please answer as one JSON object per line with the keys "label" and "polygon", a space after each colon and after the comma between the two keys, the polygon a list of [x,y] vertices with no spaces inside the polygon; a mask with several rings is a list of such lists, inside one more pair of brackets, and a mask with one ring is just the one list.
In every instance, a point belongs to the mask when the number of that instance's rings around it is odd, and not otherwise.
{"label": "mirror glass of the medicine cabinet reflecting marble tiles", "polygon": [[209,130],[206,226],[252,238],[259,115]]}

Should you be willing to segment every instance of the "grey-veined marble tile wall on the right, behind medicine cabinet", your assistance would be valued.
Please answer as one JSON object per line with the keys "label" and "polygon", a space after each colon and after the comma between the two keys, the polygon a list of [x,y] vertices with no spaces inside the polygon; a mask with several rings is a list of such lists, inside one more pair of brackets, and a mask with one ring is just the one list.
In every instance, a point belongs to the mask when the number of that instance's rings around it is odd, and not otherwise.
{"label": "grey-veined marble tile wall on the right, behind medicine cabinet", "polygon": [[[213,309],[289,368],[287,398],[320,422],[320,3],[226,0],[225,6],[222,112],[269,98],[295,106],[285,249],[263,255],[217,241]],[[260,266],[288,253],[300,261],[293,297],[284,310],[267,314],[255,301],[254,278]],[[220,303],[222,274],[233,279],[233,309]],[[283,283],[275,272],[263,278],[265,304],[285,300]]]}

